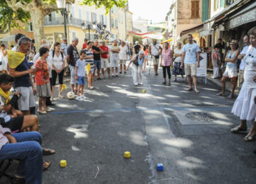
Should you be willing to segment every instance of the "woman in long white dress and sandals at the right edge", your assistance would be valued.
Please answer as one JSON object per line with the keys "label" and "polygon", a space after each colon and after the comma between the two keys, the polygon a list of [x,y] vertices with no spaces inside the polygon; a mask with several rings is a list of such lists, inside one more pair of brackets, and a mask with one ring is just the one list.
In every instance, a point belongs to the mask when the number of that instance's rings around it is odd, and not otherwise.
{"label": "woman in long white dress and sandals at the right edge", "polygon": [[244,57],[245,74],[244,84],[242,84],[241,91],[238,98],[233,105],[232,113],[240,117],[240,125],[231,129],[231,132],[237,133],[247,130],[247,121],[252,121],[250,132],[245,136],[246,142],[252,141],[256,136],[256,82],[253,81],[253,76],[256,75],[256,29],[250,31],[250,47]]}

